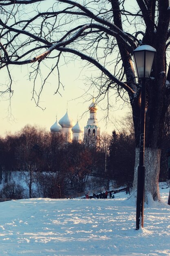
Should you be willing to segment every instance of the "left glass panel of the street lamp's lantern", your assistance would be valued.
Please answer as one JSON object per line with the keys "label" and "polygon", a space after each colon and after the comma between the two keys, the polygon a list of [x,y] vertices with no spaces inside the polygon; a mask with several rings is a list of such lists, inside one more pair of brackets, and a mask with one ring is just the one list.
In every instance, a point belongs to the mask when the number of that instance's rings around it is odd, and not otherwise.
{"label": "left glass panel of the street lamp's lantern", "polygon": [[137,71],[137,76],[139,78],[144,78],[144,51],[134,52],[134,61]]}

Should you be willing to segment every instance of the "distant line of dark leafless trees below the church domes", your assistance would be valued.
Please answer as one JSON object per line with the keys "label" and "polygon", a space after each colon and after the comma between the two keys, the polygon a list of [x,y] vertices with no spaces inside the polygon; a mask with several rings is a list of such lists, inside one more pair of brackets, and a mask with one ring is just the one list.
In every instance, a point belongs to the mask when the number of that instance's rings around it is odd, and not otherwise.
{"label": "distant line of dark leafless trees below the church domes", "polygon": [[[87,182],[132,188],[135,164],[135,136],[132,119],[122,121],[121,131],[103,133],[97,144],[66,142],[62,135],[25,126],[15,135],[0,138],[1,198],[24,198],[22,181],[16,185],[11,173],[22,173],[27,197],[64,198],[84,193]],[[160,181],[167,179],[166,150],[170,147],[170,115],[166,115],[161,156]],[[96,191],[99,192],[99,191]]]}

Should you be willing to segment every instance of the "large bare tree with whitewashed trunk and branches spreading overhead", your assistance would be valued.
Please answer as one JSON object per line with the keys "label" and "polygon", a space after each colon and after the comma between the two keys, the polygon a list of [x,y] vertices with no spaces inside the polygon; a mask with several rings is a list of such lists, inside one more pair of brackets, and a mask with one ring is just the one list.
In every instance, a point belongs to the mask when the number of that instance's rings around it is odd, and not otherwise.
{"label": "large bare tree with whitewashed trunk and branches spreading overhead", "polygon": [[[30,11],[26,7],[31,8]],[[109,92],[128,99],[135,127],[136,164],[139,156],[141,84],[136,81],[132,51],[139,45],[157,50],[152,79],[147,83],[146,112],[146,202],[148,194],[159,200],[161,140],[166,111],[170,105],[170,70],[167,70],[170,45],[170,8],[168,0],[0,0],[0,68],[7,68],[10,82],[3,92],[12,93],[10,65],[30,64],[34,78],[33,99],[40,94],[49,75],[66,56],[82,59],[84,65],[97,67],[100,74],[92,84],[99,89],[99,101]],[[24,11],[25,10],[25,11]],[[22,15],[22,13],[24,15]],[[35,93],[40,67],[48,60],[53,65]],[[58,87],[56,92],[58,91]],[[137,186],[135,167],[134,190]]]}

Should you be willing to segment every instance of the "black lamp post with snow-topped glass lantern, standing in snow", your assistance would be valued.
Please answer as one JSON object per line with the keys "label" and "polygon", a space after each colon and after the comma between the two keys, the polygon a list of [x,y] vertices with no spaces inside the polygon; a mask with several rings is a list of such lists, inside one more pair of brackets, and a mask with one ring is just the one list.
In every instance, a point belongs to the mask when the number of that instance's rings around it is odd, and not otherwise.
{"label": "black lamp post with snow-topped glass lantern, standing in snow", "polygon": [[141,80],[141,116],[140,116],[140,146],[139,166],[137,171],[137,208],[136,230],[144,227],[144,187],[145,187],[145,108],[146,108],[146,79],[150,78],[156,49],[150,45],[141,45],[133,51],[138,80]]}

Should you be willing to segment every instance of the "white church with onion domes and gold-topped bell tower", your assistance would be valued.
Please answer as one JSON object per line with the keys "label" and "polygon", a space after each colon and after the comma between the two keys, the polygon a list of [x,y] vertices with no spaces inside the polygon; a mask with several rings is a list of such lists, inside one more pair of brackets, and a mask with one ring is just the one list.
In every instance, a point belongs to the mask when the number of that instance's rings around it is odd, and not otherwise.
{"label": "white church with onion domes and gold-topped bell tower", "polygon": [[75,124],[73,119],[69,117],[68,110],[64,117],[51,126],[51,132],[62,134],[65,136],[66,141],[71,142],[77,140],[79,142],[84,141],[85,143],[94,144],[100,137],[100,128],[97,121],[97,106],[95,104],[94,98],[91,105],[88,107],[90,112],[90,117],[88,118],[87,124],[84,130],[80,127],[79,122]]}

